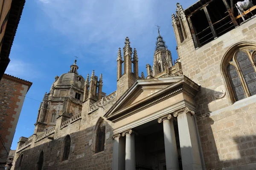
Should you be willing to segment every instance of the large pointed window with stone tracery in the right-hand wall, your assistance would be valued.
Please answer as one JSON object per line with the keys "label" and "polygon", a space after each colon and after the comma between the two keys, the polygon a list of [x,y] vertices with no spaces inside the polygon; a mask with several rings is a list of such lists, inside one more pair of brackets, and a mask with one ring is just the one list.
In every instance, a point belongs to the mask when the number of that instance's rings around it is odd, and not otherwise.
{"label": "large pointed window with stone tracery in the right-hand wall", "polygon": [[227,73],[236,101],[256,94],[255,55],[256,50],[239,49],[227,65]]}

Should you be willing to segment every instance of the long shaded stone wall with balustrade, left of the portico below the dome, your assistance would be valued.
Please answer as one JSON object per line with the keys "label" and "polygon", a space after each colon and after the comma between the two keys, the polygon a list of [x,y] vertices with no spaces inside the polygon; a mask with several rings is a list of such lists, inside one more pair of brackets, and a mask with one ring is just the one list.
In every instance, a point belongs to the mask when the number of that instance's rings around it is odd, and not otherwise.
{"label": "long shaded stone wall with balustrade, left of the portico below the dome", "polygon": [[[44,152],[44,170],[110,170],[112,165],[113,124],[105,121],[105,149],[95,153],[96,124],[101,121],[105,112],[116,102],[114,96],[100,107],[89,112],[90,99],[83,103],[81,116],[62,126],[61,117],[57,118],[55,133],[36,141],[36,135],[28,147],[19,150],[15,155],[12,170],[35,170],[41,151]],[[64,139],[70,135],[71,145],[68,160],[62,161]],[[23,154],[21,166],[18,167]]]}

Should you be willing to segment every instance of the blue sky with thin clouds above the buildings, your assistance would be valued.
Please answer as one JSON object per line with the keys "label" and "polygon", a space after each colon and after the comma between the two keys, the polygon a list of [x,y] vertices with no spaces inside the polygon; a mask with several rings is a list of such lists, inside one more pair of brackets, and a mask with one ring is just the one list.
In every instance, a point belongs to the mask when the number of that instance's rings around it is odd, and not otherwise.
{"label": "blue sky with thin clouds above the buildings", "polygon": [[[196,0],[180,0],[183,9]],[[6,73],[31,81],[12,150],[20,136],[29,137],[44,93],[55,76],[70,70],[78,57],[78,72],[84,78],[92,70],[103,74],[103,91],[116,90],[116,58],[125,37],[137,49],[139,72],[153,63],[157,37],[155,25],[177,59],[171,14],[175,0],[26,0],[12,46]]]}

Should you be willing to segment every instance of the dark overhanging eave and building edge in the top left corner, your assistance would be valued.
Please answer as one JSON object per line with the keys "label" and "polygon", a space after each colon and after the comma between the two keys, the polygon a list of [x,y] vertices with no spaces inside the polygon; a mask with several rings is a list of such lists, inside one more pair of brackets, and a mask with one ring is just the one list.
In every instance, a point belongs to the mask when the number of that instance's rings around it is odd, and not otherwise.
{"label": "dark overhanging eave and building edge in the top left corner", "polygon": [[25,0],[0,0],[0,80],[10,62],[17,26]]}

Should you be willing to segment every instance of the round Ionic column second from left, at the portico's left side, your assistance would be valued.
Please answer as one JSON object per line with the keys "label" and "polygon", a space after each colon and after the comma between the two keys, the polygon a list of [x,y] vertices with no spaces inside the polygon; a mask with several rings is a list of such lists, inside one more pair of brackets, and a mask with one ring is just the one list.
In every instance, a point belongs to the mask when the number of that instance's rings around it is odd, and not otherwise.
{"label": "round Ionic column second from left, at the portico's left side", "polygon": [[126,136],[125,140],[125,170],[135,170],[135,141],[132,130],[126,130],[122,133]]}

